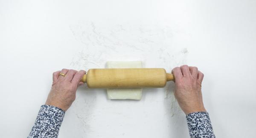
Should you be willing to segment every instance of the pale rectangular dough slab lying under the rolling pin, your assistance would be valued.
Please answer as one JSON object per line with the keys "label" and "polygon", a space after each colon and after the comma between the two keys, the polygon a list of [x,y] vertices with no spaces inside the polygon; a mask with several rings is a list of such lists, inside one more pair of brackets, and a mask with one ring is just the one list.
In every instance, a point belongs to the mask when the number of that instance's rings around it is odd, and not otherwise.
{"label": "pale rectangular dough slab lying under the rolling pin", "polygon": [[[107,68],[142,68],[141,61],[134,62],[107,62]],[[142,89],[107,89],[108,99],[140,100]]]}

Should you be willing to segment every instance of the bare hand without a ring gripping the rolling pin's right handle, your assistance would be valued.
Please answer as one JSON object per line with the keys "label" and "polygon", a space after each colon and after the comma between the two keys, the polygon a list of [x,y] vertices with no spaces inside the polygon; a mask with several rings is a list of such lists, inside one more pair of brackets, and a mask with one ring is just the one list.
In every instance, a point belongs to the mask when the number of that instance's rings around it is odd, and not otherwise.
{"label": "bare hand without a ring gripping the rolling pin's right handle", "polygon": [[175,98],[183,112],[206,112],[204,108],[201,84],[204,74],[196,67],[183,65],[172,70],[175,76]]}

